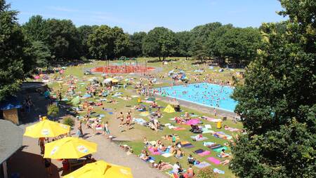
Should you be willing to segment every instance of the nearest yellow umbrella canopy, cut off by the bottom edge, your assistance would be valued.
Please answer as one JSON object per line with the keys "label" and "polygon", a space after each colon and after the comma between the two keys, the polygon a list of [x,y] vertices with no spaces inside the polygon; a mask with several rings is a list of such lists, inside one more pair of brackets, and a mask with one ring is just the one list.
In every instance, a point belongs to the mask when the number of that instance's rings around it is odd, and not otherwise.
{"label": "nearest yellow umbrella canopy, cut off by the bottom edge", "polygon": [[106,163],[98,160],[95,163],[88,163],[78,170],[67,174],[64,178],[133,178],[131,168]]}

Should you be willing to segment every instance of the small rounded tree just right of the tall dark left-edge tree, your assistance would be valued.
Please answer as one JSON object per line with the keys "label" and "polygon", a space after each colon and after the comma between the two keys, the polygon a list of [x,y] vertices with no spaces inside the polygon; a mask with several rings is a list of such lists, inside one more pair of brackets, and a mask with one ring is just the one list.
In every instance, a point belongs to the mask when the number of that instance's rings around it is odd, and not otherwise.
{"label": "small rounded tree just right of the tall dark left-edge tree", "polygon": [[31,51],[37,62],[37,67],[48,67],[49,62],[51,62],[51,50],[42,41],[32,42]]}

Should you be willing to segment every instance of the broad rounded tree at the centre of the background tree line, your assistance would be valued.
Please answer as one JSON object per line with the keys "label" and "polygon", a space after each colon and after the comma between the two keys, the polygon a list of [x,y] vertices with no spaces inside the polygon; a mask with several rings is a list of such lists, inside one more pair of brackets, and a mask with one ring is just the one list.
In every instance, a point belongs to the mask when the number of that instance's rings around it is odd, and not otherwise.
{"label": "broad rounded tree at the centre of the background tree line", "polygon": [[148,32],[143,41],[143,53],[145,55],[159,57],[164,60],[166,56],[175,52],[176,36],[167,28],[155,27]]}

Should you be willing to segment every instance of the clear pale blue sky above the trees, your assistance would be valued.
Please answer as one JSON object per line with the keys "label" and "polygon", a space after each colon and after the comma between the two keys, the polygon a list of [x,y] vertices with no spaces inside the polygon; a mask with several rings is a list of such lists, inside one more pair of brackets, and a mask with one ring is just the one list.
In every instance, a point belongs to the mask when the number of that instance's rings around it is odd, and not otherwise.
{"label": "clear pale blue sky above the trees", "polygon": [[277,0],[6,0],[20,11],[20,23],[32,15],[70,19],[80,25],[119,26],[125,32],[167,27],[175,32],[209,22],[259,27],[284,20]]}

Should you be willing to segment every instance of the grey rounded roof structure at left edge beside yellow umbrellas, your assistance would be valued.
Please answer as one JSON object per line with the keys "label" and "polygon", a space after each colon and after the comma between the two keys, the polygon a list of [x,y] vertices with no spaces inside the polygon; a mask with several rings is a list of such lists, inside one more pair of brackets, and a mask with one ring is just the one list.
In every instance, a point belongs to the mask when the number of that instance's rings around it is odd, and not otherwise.
{"label": "grey rounded roof structure at left edge beside yellow umbrellas", "polygon": [[23,130],[11,121],[0,119],[0,177],[7,178],[7,160],[22,146]]}

